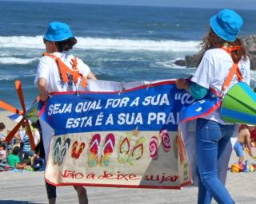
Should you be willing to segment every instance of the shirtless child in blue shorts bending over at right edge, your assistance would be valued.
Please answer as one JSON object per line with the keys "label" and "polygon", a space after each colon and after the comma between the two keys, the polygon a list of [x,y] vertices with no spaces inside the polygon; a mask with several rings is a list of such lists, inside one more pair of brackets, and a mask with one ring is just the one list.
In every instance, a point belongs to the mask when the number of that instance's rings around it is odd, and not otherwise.
{"label": "shirtless child in blue shorts bending over at right edge", "polygon": [[234,144],[234,151],[236,155],[239,157],[238,163],[243,163],[244,155],[243,150],[246,147],[248,149],[248,153],[251,157],[253,157],[253,152],[250,146],[250,131],[253,131],[255,127],[241,125],[239,132],[238,132],[238,140]]}

